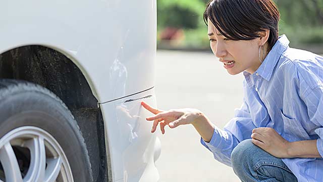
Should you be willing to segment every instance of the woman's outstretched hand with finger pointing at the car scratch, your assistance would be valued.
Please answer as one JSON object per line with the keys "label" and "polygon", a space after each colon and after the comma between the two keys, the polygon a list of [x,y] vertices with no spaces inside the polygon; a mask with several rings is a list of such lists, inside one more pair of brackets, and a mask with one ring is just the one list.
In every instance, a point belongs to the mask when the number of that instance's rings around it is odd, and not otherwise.
{"label": "woman's outstretched hand with finger pointing at the car scratch", "polygon": [[161,133],[164,134],[166,125],[170,128],[175,128],[183,124],[193,124],[201,115],[201,112],[197,109],[185,108],[163,111],[152,108],[145,102],[141,102],[141,105],[151,113],[155,114],[154,116],[146,118],[148,121],[154,121],[151,132],[155,132],[158,123],[160,125]]}

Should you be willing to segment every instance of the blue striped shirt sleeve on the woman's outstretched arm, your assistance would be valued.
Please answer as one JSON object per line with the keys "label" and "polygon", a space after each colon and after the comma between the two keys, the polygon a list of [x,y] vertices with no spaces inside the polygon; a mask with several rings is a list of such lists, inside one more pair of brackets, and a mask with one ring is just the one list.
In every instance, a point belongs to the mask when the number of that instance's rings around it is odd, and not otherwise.
{"label": "blue striped shirt sleeve on the woman's outstretched arm", "polygon": [[240,109],[235,110],[235,117],[224,127],[224,130],[214,126],[209,143],[200,139],[201,144],[213,153],[214,159],[231,166],[232,150],[243,140],[250,139],[255,128],[249,107],[244,99]]}

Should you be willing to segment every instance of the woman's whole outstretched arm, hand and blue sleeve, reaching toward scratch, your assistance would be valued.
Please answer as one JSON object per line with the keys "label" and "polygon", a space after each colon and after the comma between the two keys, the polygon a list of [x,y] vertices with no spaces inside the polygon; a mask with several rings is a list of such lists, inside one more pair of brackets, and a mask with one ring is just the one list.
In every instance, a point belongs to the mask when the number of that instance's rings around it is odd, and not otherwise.
{"label": "woman's whole outstretched arm, hand and blue sleeve, reaching toward scratch", "polygon": [[192,124],[201,136],[201,144],[213,153],[214,159],[229,166],[231,166],[232,150],[238,145],[239,140],[242,141],[243,139],[249,138],[251,130],[254,128],[248,106],[245,102],[240,109],[236,110],[236,117],[230,120],[224,130],[212,124],[197,109],[185,108],[163,111],[152,108],[145,102],[142,102],[141,105],[155,114],[154,116],[146,118],[148,121],[153,121],[151,132],[156,131],[158,123],[163,134],[165,133],[165,126],[167,125],[170,128],[175,128],[183,124]]}

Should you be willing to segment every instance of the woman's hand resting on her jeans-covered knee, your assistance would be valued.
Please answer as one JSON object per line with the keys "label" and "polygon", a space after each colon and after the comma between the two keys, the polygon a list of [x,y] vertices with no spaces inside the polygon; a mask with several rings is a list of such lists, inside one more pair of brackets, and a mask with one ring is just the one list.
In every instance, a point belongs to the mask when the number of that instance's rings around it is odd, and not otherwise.
{"label": "woman's hand resting on her jeans-covered knee", "polygon": [[286,141],[273,128],[259,127],[253,129],[251,142],[275,157],[290,158],[287,153],[290,142]]}

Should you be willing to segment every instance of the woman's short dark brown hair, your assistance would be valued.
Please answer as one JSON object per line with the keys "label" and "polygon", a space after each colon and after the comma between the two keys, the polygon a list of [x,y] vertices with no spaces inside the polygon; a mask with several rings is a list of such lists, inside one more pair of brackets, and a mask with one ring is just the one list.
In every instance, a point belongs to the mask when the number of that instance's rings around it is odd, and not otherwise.
{"label": "woman's short dark brown hair", "polygon": [[278,40],[279,11],[272,0],[211,0],[203,14],[227,38],[252,40],[270,30],[268,51]]}

